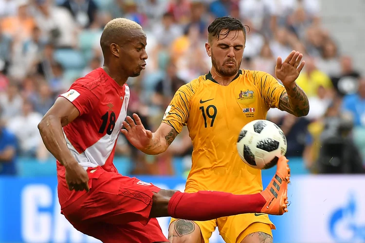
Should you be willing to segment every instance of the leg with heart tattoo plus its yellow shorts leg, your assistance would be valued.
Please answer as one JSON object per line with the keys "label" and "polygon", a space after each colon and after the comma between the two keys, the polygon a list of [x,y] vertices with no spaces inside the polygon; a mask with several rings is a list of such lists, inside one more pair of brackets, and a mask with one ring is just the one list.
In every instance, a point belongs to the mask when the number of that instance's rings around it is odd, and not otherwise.
{"label": "leg with heart tattoo plus its yellow shorts leg", "polygon": [[216,226],[217,220],[194,222],[172,218],[168,240],[170,243],[208,243]]}

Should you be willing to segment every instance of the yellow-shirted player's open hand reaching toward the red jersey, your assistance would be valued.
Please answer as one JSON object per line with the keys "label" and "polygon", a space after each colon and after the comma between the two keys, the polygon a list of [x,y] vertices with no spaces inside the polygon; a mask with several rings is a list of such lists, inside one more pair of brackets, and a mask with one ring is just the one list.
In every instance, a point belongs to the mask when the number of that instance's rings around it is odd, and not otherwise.
{"label": "yellow-shirted player's open hand reaching toward the red jersey", "polygon": [[133,114],[133,118],[136,122],[130,116],[127,116],[126,121],[123,121],[124,129],[121,132],[134,147],[141,150],[146,148],[150,143],[152,132],[145,129],[137,114]]}

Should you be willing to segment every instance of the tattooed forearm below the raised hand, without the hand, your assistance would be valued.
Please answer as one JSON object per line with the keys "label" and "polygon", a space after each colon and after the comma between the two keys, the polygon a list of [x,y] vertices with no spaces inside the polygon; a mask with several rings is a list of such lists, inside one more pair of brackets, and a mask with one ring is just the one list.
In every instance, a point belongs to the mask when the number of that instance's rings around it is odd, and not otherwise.
{"label": "tattooed forearm below the raised hand, without the hand", "polygon": [[296,85],[281,95],[278,108],[297,117],[306,116],[309,112],[308,97],[303,89]]}

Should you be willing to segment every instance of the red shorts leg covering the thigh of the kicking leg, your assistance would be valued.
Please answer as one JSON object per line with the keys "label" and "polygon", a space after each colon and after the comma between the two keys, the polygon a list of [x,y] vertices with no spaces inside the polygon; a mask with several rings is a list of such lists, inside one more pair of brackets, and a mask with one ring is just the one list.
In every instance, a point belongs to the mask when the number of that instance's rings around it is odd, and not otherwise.
{"label": "red shorts leg covering the thigh of the kicking leg", "polygon": [[152,197],[159,188],[137,178],[105,172],[91,179],[91,189],[71,205],[63,208],[74,222],[123,225],[139,221],[146,224]]}

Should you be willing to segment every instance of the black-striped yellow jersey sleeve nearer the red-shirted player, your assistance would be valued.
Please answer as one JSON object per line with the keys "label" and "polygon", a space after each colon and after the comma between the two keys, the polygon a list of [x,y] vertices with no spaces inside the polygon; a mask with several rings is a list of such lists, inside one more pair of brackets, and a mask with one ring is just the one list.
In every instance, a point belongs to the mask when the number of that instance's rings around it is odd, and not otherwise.
{"label": "black-striped yellow jersey sleeve nearer the red-shirted player", "polygon": [[172,126],[178,133],[181,133],[189,118],[194,90],[193,81],[180,87],[165,111],[162,122]]}

